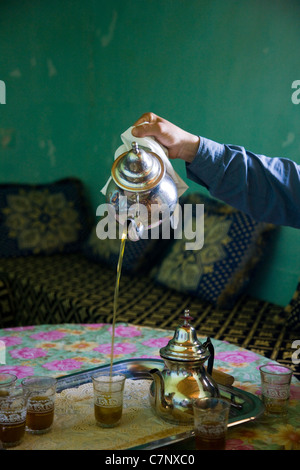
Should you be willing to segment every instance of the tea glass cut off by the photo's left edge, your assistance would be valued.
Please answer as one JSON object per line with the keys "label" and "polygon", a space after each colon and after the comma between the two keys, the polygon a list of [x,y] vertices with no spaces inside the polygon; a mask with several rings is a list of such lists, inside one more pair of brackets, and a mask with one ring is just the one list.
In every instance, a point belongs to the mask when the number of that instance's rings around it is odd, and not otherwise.
{"label": "tea glass cut off by the photo's left edge", "polygon": [[0,396],[0,442],[4,448],[20,444],[25,434],[27,397],[22,387]]}

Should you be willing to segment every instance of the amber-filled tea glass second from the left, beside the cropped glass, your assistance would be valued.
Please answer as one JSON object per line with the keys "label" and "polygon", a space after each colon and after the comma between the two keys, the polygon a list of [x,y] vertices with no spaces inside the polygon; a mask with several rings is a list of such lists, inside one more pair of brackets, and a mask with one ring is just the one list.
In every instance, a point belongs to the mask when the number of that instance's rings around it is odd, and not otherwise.
{"label": "amber-filled tea glass second from the left, beside the cropped glass", "polygon": [[54,420],[57,380],[53,377],[32,376],[22,380],[28,398],[26,431],[44,434],[50,431]]}

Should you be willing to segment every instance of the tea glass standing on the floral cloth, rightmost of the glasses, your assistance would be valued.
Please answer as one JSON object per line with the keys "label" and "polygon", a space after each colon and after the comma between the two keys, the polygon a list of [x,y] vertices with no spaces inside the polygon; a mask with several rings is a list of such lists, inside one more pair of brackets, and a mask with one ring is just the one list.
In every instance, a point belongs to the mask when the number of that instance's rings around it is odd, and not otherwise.
{"label": "tea glass standing on the floral cloth, rightmost of the glasses", "polygon": [[262,401],[265,414],[285,416],[288,411],[293,371],[280,364],[265,364],[259,368]]}

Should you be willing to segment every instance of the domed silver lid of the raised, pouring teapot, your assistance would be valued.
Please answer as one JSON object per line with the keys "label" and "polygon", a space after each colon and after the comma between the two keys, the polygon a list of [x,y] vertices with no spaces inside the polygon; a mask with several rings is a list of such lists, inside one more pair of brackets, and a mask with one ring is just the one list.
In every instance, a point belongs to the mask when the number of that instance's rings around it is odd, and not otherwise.
{"label": "domed silver lid of the raised, pouring teapot", "polygon": [[154,188],[165,174],[162,159],[136,142],[131,145],[132,149],[122,153],[113,163],[111,174],[114,182],[128,191]]}

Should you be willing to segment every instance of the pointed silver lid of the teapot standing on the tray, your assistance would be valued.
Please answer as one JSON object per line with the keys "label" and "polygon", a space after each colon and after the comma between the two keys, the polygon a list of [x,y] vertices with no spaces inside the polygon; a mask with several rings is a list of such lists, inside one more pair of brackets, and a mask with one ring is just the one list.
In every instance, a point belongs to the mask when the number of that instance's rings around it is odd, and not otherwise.
{"label": "pointed silver lid of the teapot standing on the tray", "polygon": [[183,323],[176,328],[174,337],[167,346],[160,349],[160,355],[164,359],[204,362],[210,353],[198,340],[196,330],[190,324],[193,317],[190,316],[189,310],[184,311],[182,318]]}

